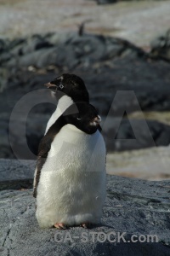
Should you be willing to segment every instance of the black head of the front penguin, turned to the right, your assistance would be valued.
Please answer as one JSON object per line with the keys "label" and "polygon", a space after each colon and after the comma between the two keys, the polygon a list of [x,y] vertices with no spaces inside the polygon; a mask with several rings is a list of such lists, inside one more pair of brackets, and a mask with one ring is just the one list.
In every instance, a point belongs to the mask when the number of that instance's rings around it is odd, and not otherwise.
{"label": "black head of the front penguin, turned to the right", "polygon": [[99,128],[101,118],[93,105],[88,102],[72,104],[63,113],[67,124],[75,125],[81,131],[93,134]]}

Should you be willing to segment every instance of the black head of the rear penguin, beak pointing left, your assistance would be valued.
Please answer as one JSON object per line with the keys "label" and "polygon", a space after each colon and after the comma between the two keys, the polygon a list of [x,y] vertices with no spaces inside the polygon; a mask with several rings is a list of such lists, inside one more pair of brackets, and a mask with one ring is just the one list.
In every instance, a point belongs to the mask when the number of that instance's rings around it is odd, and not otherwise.
{"label": "black head of the rear penguin, beak pointing left", "polygon": [[64,73],[45,85],[54,91],[58,99],[66,95],[73,102],[89,102],[88,90],[83,80],[75,74]]}

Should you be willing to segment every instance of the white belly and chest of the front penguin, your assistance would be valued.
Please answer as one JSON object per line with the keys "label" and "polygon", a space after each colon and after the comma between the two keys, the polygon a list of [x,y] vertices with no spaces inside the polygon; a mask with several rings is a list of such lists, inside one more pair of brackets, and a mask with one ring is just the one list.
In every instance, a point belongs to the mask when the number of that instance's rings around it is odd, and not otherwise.
{"label": "white belly and chest of the front penguin", "polygon": [[65,125],[54,137],[37,187],[40,226],[99,223],[105,201],[105,143]]}

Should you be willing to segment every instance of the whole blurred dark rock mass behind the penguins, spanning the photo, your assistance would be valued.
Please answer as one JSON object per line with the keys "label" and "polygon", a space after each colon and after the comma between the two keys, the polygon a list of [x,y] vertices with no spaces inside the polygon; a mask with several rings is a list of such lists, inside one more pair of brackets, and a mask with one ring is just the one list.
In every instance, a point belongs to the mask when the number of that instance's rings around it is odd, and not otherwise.
{"label": "whole blurred dark rock mass behind the penguins, spanning the photo", "polygon": [[[159,38],[156,40],[158,42]],[[168,57],[165,60],[160,54],[162,47],[158,45],[161,44],[154,44],[147,53],[127,40],[85,33],[80,36],[74,32],[1,39],[0,144],[3,150],[0,157],[14,157],[8,143],[8,122],[14,105],[26,93],[43,89],[43,84],[61,73],[76,73],[84,79],[90,100],[103,117],[109,151],[168,145],[168,125],[147,120],[144,126],[140,119],[132,125],[126,115],[140,110],[170,110],[170,64]],[[164,52],[165,49],[168,52],[169,44],[164,44]],[[130,94],[115,98],[119,90],[127,90]],[[28,103],[34,106],[26,125],[27,143],[34,154],[37,154],[37,145],[55,108],[49,103],[49,91],[44,89],[43,97],[46,94],[48,103],[37,105],[37,100],[32,98],[24,106],[27,108]],[[26,145],[20,137],[24,125],[22,118],[21,114],[15,119],[10,143],[20,148],[22,158],[32,158],[25,154]],[[117,118],[122,122],[117,123]],[[144,129],[146,126],[149,130]]]}

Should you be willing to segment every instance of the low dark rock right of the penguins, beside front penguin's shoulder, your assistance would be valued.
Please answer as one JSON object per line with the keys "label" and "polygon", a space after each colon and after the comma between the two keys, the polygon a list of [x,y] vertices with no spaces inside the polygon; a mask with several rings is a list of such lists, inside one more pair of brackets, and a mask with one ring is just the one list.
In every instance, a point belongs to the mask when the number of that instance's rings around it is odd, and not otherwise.
{"label": "low dark rock right of the penguins, beside front penguin's shoulder", "polygon": [[[143,119],[106,118],[103,126],[108,152],[167,146],[170,144],[170,126]],[[102,126],[102,125],[101,125]]]}

